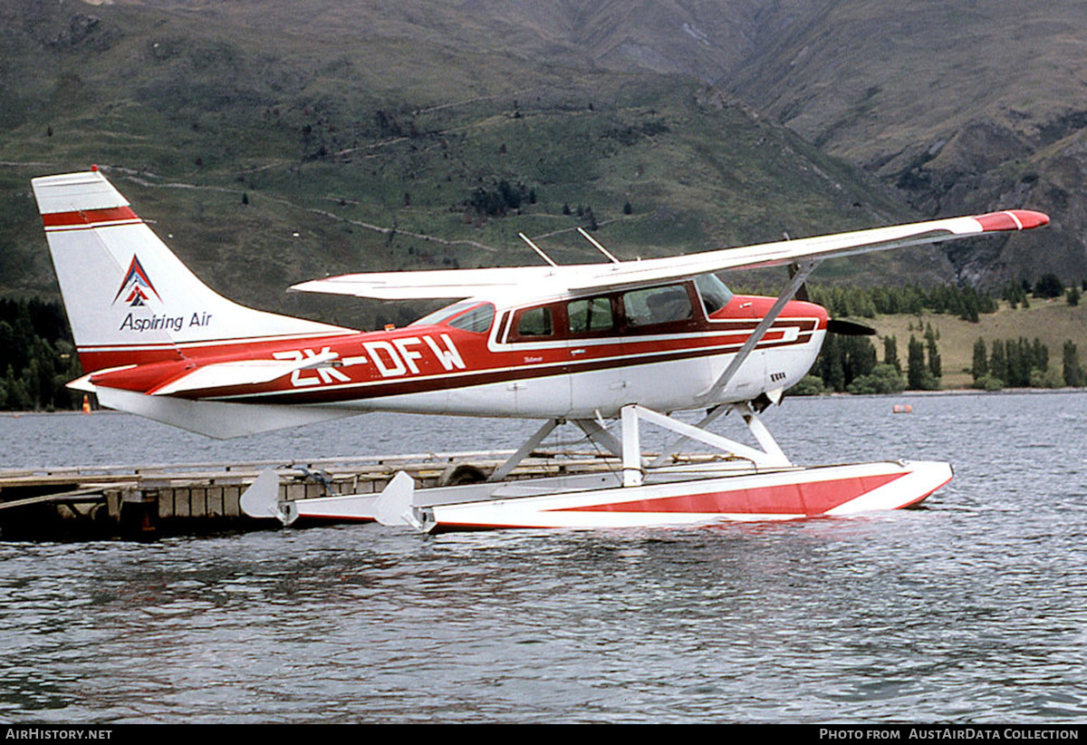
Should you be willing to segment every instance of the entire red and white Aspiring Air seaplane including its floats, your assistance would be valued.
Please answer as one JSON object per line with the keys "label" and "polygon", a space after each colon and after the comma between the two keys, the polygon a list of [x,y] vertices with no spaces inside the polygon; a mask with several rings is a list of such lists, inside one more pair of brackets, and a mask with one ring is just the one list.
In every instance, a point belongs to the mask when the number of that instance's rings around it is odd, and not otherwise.
{"label": "entire red and white Aspiring Air seaplane including its floats", "polygon": [[[705,525],[916,505],[950,481],[950,464],[798,465],[761,420],[834,330],[824,308],[796,295],[827,259],[1049,222],[1014,209],[625,261],[585,233],[600,259],[562,265],[522,236],[538,265],[347,274],[291,288],[451,301],[404,327],[361,332],[216,294],[97,167],[34,178],[33,188],[86,373],[70,385],[104,407],[212,437],[372,411],[540,421],[473,483],[421,488],[401,471],[382,492],[288,501],[273,473],[242,498],[248,513],[285,523],[422,531]],[[734,294],[720,277],[783,265],[790,277],[777,297]],[[675,415],[690,411],[701,420]],[[730,412],[757,445],[707,429]],[[579,429],[614,468],[513,477],[560,425]],[[645,454],[642,425],[674,443]],[[719,457],[677,460],[691,440]]]}

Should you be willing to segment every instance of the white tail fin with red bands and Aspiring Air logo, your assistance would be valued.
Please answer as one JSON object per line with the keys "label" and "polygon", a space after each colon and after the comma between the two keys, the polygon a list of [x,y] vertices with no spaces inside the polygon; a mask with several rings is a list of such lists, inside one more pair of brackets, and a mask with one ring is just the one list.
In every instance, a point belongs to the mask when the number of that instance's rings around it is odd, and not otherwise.
{"label": "white tail fin with red bands and Aspiring Air logo", "polygon": [[86,372],[351,330],[239,306],[203,284],[97,169],[32,182]]}

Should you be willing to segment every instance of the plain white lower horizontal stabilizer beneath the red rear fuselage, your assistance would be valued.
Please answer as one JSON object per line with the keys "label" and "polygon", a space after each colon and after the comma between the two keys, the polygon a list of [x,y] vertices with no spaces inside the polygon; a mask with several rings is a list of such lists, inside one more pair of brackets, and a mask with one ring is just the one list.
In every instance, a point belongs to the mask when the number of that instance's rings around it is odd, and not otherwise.
{"label": "plain white lower horizontal stabilizer beneath the red rear fuselage", "polygon": [[359,413],[347,409],[324,407],[189,401],[168,396],[147,396],[133,390],[102,386],[98,386],[96,393],[99,403],[110,409],[127,411],[218,439],[242,437],[258,432],[272,432],[301,424],[313,424]]}

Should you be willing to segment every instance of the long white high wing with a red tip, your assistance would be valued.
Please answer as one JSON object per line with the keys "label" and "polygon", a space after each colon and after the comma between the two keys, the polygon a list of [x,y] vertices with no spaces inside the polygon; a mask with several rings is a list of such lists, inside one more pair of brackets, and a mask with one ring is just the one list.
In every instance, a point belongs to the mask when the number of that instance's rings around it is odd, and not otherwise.
{"label": "long white high wing with a red tip", "polygon": [[535,283],[546,283],[558,290],[580,291],[680,280],[729,269],[774,266],[801,259],[854,256],[985,233],[1026,231],[1048,223],[1049,216],[1041,212],[1005,210],[645,261],[345,274],[305,282],[291,289],[386,300],[485,297]]}

